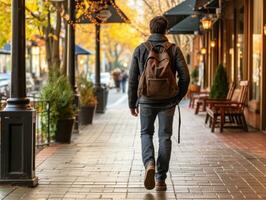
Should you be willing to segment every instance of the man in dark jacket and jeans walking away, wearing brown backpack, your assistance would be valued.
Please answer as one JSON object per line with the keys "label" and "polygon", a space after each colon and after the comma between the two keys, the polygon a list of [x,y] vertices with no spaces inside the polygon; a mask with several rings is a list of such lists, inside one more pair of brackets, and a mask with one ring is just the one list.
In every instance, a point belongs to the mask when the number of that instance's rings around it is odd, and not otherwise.
{"label": "man in dark jacket and jeans walking away, wearing brown backpack", "polygon": [[[146,189],[156,186],[157,191],[167,189],[165,179],[171,155],[175,107],[185,96],[190,80],[181,50],[168,42],[165,36],[167,25],[166,18],[162,16],[150,21],[151,35],[148,41],[140,44],[134,51],[128,87],[129,108],[133,116],[138,116],[140,106],[144,186]],[[157,116],[159,151],[155,163],[153,135]]]}

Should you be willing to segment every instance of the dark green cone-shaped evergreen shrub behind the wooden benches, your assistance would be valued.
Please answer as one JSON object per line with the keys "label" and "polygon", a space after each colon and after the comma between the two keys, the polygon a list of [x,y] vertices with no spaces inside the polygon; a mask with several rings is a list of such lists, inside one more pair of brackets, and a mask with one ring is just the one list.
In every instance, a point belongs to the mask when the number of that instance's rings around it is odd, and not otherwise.
{"label": "dark green cone-shaped evergreen shrub behind the wooden benches", "polygon": [[218,65],[211,87],[210,98],[225,99],[228,92],[227,73],[222,64]]}

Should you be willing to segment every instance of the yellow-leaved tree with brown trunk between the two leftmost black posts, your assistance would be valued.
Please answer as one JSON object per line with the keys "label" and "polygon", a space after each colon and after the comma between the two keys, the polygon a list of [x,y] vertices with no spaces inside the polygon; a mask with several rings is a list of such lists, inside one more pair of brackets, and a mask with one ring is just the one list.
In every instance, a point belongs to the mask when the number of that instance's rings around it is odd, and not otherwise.
{"label": "yellow-leaved tree with brown trunk between the two leftmost black posts", "polygon": [[[28,26],[33,24],[45,40],[46,61],[49,72],[59,69],[61,65],[60,37],[62,20],[64,19],[62,17],[65,16],[65,4],[42,0],[27,1]],[[66,23],[64,25],[66,26]],[[63,73],[66,73],[65,65],[65,62],[61,65]]]}

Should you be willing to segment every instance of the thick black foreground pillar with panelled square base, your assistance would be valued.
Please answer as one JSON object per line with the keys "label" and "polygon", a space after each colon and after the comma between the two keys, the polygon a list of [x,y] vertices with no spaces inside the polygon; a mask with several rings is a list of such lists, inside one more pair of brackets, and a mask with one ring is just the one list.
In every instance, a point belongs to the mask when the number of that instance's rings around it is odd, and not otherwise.
{"label": "thick black foreground pillar with panelled square base", "polygon": [[36,186],[35,111],[26,97],[25,0],[12,0],[11,98],[1,112],[0,183]]}

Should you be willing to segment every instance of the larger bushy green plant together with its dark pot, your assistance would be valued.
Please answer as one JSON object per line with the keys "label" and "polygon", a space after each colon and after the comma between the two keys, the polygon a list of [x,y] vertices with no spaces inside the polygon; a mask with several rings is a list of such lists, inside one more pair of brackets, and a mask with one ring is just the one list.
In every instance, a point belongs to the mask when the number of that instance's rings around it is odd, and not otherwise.
{"label": "larger bushy green plant together with its dark pot", "polygon": [[74,125],[73,91],[65,76],[53,75],[41,91],[50,102],[50,131],[56,142],[70,143]]}

